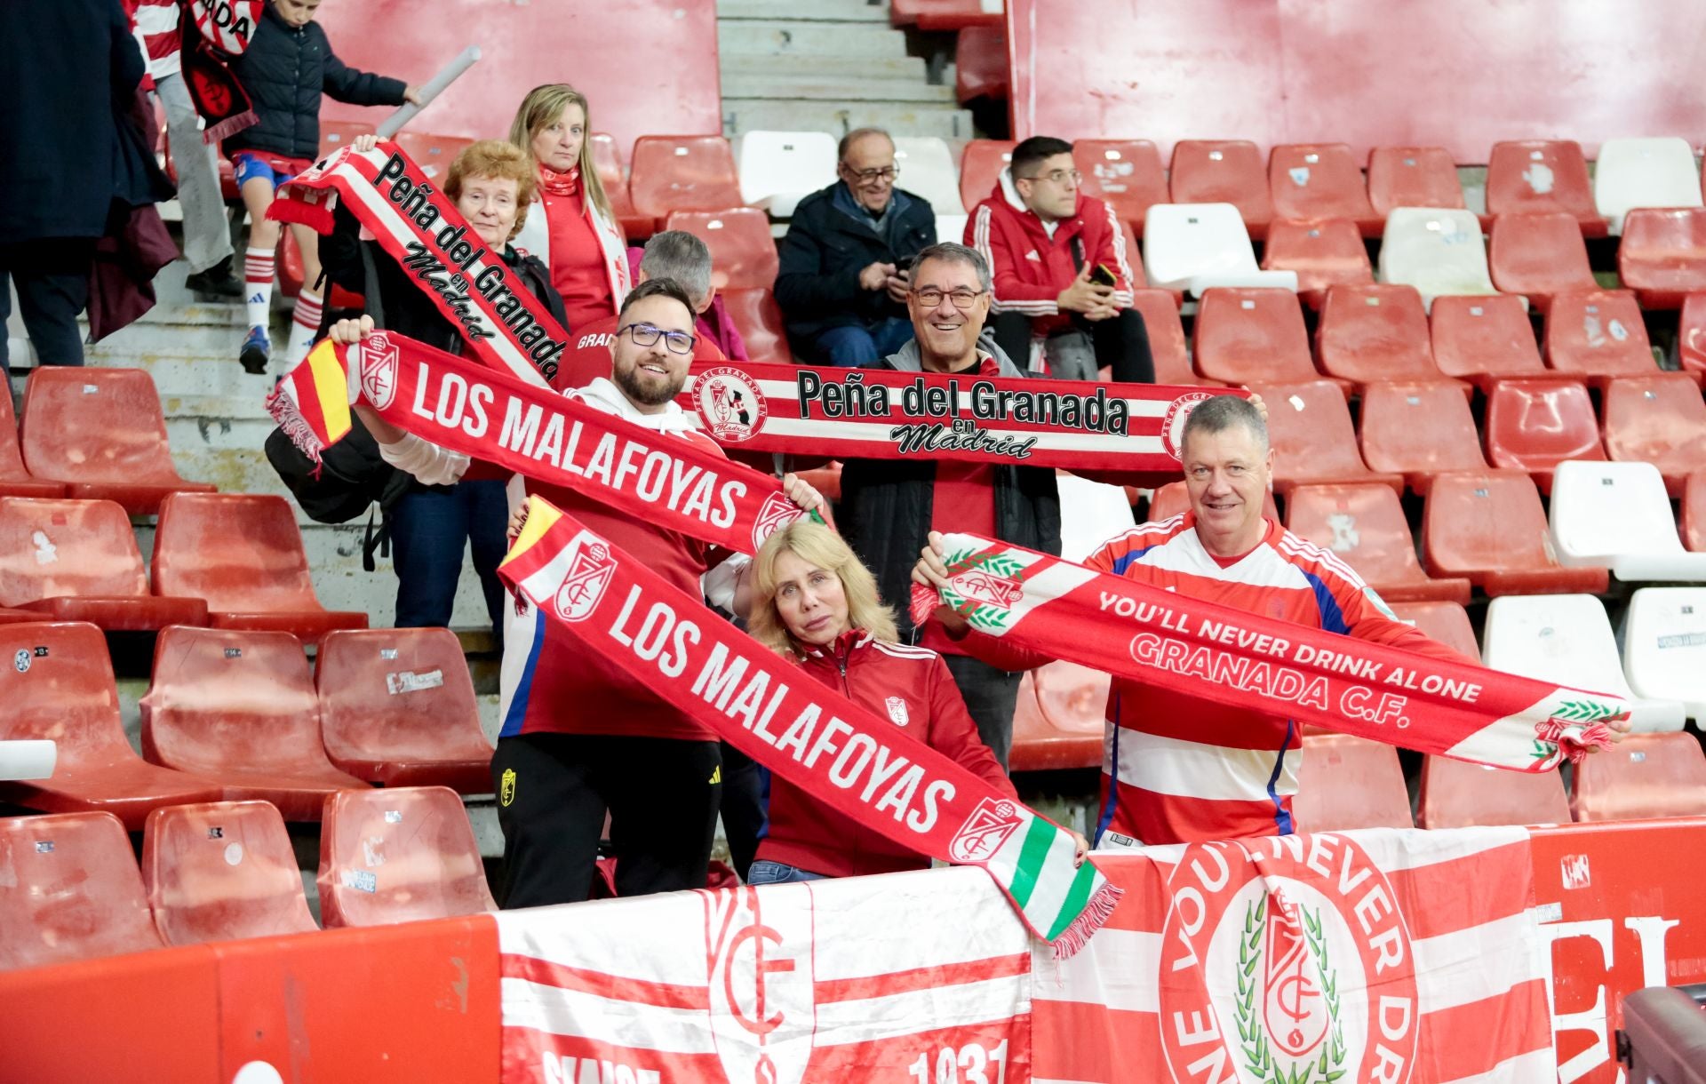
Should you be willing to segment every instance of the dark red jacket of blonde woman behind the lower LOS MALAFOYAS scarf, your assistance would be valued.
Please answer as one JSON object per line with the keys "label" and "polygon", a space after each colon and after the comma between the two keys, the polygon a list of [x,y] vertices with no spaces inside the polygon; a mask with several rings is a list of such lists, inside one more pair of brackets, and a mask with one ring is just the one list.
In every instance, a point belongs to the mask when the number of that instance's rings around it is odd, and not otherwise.
{"label": "dark red jacket of blonde woman behind the lower LOS MALAFOYAS scarf", "polygon": [[[844,633],[800,667],[880,719],[906,727],[937,753],[1017,799],[1012,780],[978,736],[949,667],[933,650]],[[926,869],[930,859],[860,826],[781,778],[769,784],[769,828],[757,857],[814,874],[853,877]]]}

